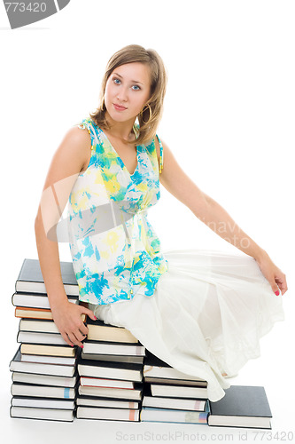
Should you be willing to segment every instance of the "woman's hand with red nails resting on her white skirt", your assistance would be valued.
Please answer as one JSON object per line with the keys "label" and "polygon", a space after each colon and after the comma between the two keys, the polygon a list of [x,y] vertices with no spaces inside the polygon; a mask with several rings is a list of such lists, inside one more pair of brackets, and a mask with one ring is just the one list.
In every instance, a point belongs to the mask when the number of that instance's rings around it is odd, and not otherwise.
{"label": "woman's hand with red nails resting on her white skirt", "polygon": [[278,289],[281,290],[282,296],[287,291],[287,281],[286,276],[283,272],[275,266],[271,258],[269,258],[268,253],[263,251],[260,258],[255,258],[256,262],[260,266],[262,274],[266,277],[271,285],[276,296],[279,295]]}

